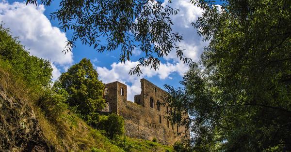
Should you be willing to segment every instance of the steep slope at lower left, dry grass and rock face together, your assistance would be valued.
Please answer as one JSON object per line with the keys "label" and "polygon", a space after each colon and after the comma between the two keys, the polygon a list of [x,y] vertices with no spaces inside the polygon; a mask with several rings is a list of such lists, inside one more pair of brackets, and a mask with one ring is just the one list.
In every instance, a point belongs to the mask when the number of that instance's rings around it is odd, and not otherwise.
{"label": "steep slope at lower left, dry grass and rock face together", "polygon": [[[152,141],[111,141],[80,118],[51,123],[35,106],[32,92],[0,66],[0,151],[171,152]],[[65,117],[69,117],[66,115]],[[124,138],[121,138],[121,140]]]}

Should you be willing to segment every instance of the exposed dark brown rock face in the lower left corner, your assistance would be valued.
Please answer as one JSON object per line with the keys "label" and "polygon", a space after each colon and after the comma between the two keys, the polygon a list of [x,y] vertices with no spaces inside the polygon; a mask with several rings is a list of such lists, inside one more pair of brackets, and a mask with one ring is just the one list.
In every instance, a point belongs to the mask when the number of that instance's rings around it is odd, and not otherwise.
{"label": "exposed dark brown rock face in the lower left corner", "polygon": [[0,151],[51,152],[30,106],[0,87]]}

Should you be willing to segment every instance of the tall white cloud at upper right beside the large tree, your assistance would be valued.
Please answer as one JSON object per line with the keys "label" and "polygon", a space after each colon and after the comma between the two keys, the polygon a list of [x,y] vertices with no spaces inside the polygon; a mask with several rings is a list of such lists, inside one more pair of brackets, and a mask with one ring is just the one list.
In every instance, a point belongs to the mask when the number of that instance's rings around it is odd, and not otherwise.
{"label": "tall white cloud at upper right beside the large tree", "polygon": [[[165,0],[163,3],[163,5],[166,4],[168,4],[168,0]],[[191,23],[195,22],[202,15],[203,10],[191,4],[190,0],[172,0],[170,6],[179,9],[177,15],[171,16],[174,23],[173,31],[183,36],[183,40],[178,45],[181,49],[185,49],[184,55],[197,62],[204,51],[204,46],[207,46],[208,42],[202,41],[202,37],[198,36],[196,29]],[[165,59],[181,62],[177,58],[175,51],[172,51]]]}

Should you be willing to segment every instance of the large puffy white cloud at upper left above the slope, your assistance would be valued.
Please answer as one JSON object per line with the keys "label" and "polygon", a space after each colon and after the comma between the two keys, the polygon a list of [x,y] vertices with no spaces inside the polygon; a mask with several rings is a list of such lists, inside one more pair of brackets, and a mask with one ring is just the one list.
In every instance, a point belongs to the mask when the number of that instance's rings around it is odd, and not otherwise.
{"label": "large puffy white cloud at upper left above the slope", "polygon": [[48,59],[52,62],[53,79],[60,71],[57,67],[64,67],[73,62],[73,54],[64,55],[67,38],[59,28],[53,27],[44,15],[44,5],[25,5],[24,2],[0,2],[0,21],[5,28],[10,28],[14,37],[18,37],[21,44],[29,49],[32,55]]}

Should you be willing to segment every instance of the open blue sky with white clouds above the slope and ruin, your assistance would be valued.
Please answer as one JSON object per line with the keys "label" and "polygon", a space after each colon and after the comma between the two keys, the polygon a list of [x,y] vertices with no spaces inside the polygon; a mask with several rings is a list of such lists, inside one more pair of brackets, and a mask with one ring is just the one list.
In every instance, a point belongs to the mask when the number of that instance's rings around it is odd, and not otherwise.
{"label": "open blue sky with white clouds above the slope and ruin", "polygon": [[[184,40],[179,46],[186,49],[185,55],[198,61],[203,47],[208,42],[203,42],[197,36],[196,30],[191,26],[191,22],[202,14],[202,10],[193,6],[189,0],[172,0],[171,6],[180,9],[178,15],[173,16],[173,30],[183,35]],[[104,83],[120,81],[128,85],[128,100],[133,100],[133,96],[140,94],[140,79],[155,83],[163,88],[164,84],[179,87],[182,75],[187,71],[188,66],[184,65],[176,58],[175,52],[169,56],[161,58],[160,69],[144,68],[140,77],[130,76],[129,69],[137,64],[140,51],[135,50],[131,61],[125,64],[119,63],[118,56],[120,50],[113,52],[98,53],[92,47],[76,42],[76,48],[72,53],[64,55],[62,50],[65,41],[72,36],[72,31],[61,31],[58,28],[58,21],[50,20],[49,14],[58,8],[59,0],[54,0],[50,6],[38,5],[25,6],[23,0],[0,0],[0,22],[4,27],[10,28],[13,36],[19,37],[18,40],[29,49],[32,55],[49,59],[53,66],[54,80],[61,72],[65,72],[71,65],[78,63],[82,58],[91,59],[97,69],[99,79]]]}

